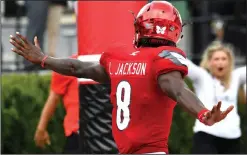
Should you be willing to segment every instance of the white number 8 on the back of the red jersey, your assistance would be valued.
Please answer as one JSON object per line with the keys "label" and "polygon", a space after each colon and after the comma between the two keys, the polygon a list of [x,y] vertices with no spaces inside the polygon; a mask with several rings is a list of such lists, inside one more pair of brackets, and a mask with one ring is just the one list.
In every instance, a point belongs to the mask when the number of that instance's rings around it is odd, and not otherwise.
{"label": "white number 8 on the back of the red jersey", "polygon": [[[117,127],[119,130],[124,130],[130,122],[130,93],[131,87],[127,81],[122,81],[117,86]],[[122,98],[123,96],[123,98]],[[123,112],[123,117],[121,113]],[[122,119],[123,118],[123,119]]]}

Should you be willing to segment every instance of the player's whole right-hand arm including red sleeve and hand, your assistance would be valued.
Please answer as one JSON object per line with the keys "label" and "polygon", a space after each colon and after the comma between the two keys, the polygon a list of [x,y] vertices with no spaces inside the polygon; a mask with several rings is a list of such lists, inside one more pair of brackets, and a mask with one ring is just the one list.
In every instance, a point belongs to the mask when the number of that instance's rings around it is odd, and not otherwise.
{"label": "player's whole right-hand arm including red sleeve and hand", "polygon": [[188,73],[184,52],[173,47],[158,50],[161,52],[155,57],[152,67],[161,90],[204,124],[213,125],[224,119],[233,106],[226,111],[220,111],[219,102],[212,110],[208,110],[199,98],[184,86],[184,76]]}

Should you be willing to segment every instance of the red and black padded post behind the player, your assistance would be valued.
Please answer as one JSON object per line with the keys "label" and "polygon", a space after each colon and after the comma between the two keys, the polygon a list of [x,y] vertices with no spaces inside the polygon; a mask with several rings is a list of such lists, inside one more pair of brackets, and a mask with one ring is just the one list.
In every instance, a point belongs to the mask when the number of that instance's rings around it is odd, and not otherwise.
{"label": "red and black padded post behind the player", "polygon": [[[134,16],[147,1],[78,1],[78,59],[99,61],[114,44],[133,46]],[[110,85],[79,79],[82,153],[118,153],[111,133]]]}

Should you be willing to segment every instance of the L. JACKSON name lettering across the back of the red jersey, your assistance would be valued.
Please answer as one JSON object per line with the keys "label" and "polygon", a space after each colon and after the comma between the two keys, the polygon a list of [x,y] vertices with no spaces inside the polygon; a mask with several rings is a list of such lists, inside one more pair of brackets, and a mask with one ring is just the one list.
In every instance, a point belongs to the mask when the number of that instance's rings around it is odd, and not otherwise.
{"label": "L. JACKSON name lettering across the back of the red jersey", "polygon": [[111,75],[146,75],[147,63],[145,62],[110,62]]}

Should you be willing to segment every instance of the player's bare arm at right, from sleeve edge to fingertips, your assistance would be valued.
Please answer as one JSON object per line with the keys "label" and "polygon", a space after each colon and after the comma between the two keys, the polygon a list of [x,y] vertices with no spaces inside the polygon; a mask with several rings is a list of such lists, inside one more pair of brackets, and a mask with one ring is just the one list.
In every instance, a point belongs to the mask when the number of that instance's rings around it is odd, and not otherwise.
{"label": "player's bare arm at right, from sleeve edge to fingertips", "polygon": [[223,120],[233,109],[233,106],[230,106],[226,111],[220,111],[221,102],[219,102],[212,110],[207,110],[198,97],[184,87],[184,81],[179,71],[160,75],[158,83],[164,93],[206,125],[213,125]]}

